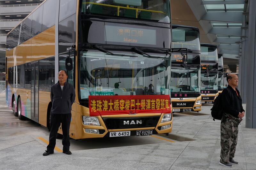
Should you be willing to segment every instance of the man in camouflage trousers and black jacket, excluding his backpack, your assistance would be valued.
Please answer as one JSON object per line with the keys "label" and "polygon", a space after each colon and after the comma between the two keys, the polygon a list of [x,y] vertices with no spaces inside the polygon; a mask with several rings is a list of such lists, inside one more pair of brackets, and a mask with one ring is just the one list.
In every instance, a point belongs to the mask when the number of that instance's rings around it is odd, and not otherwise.
{"label": "man in camouflage trousers and black jacket, excluding his backpack", "polygon": [[236,89],[238,77],[236,74],[228,74],[228,87],[221,93],[221,103],[223,106],[223,118],[220,124],[220,165],[232,167],[237,165],[233,158],[236,152],[238,124],[244,117],[242,98]]}

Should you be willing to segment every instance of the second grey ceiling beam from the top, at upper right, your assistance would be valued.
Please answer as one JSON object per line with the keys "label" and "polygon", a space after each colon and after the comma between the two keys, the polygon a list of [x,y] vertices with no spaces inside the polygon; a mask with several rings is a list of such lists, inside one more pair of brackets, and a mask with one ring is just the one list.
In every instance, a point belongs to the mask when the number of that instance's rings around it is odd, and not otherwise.
{"label": "second grey ceiling beam from the top, at upper right", "polygon": [[243,23],[243,12],[207,12],[201,20]]}

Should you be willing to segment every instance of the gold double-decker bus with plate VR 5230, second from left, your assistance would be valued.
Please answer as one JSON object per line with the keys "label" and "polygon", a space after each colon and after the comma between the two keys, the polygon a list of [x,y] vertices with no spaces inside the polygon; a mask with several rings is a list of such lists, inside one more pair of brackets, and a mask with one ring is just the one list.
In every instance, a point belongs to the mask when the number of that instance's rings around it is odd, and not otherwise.
{"label": "gold double-decker bus with plate VR 5230, second from left", "polygon": [[199,29],[172,25],[173,112],[201,111]]}

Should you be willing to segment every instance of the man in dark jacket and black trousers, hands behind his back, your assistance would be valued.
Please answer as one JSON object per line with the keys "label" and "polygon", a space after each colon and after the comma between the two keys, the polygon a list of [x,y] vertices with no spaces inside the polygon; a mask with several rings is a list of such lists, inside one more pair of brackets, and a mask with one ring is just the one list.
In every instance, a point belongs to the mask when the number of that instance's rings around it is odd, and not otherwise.
{"label": "man in dark jacket and black trousers, hands behind his back", "polygon": [[69,126],[71,121],[71,106],[75,101],[74,86],[66,82],[68,78],[65,70],[60,70],[58,74],[58,83],[51,86],[51,101],[52,110],[50,118],[51,132],[49,136],[49,144],[47,150],[43,153],[44,156],[53,153],[56,144],[56,135],[61,123],[63,133],[63,153],[72,154],[69,151]]}

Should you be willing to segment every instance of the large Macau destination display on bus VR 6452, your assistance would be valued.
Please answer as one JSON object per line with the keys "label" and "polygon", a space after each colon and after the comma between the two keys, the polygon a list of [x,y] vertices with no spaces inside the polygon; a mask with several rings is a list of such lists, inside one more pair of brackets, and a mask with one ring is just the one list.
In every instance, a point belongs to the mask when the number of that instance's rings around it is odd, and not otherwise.
{"label": "large Macau destination display on bus VR 6452", "polygon": [[105,25],[105,41],[156,45],[156,30]]}

